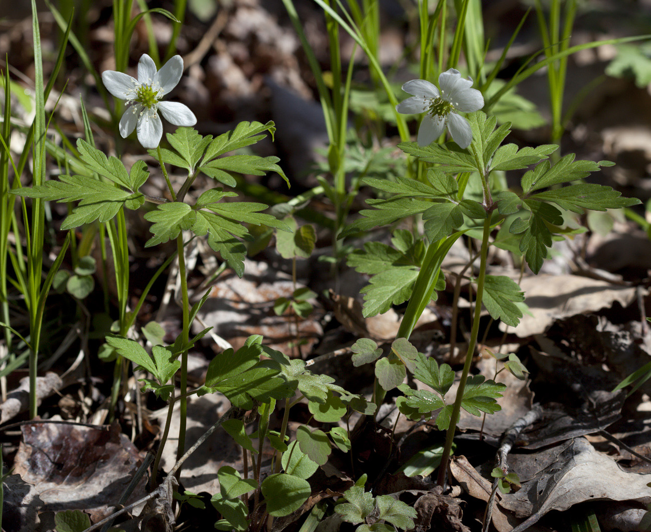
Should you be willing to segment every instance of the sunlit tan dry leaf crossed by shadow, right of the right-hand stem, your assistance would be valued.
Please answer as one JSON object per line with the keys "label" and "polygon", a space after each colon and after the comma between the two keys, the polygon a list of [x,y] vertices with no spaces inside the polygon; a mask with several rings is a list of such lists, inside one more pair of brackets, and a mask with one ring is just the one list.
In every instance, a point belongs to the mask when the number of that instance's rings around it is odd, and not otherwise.
{"label": "sunlit tan dry leaf crossed by shadow, right of the right-hand stem", "polygon": [[[635,299],[635,288],[577,275],[525,277],[520,288],[533,314],[525,314],[518,327],[508,327],[520,338],[542,334],[557,319],[610,308],[615,301],[626,307]],[[507,326],[500,323],[499,327],[505,331]]]}

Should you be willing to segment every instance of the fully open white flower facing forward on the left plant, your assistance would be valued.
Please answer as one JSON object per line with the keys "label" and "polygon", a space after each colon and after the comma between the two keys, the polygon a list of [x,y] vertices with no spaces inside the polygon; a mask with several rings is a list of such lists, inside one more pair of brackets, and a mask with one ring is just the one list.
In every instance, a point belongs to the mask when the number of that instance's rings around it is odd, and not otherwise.
{"label": "fully open white flower facing forward on the left plant", "polygon": [[138,140],[145,148],[156,148],[163,136],[163,124],[158,117],[161,111],[165,120],[175,126],[193,126],[197,117],[184,104],[161,102],[183,74],[183,59],[174,55],[156,72],[156,63],[146,53],[138,62],[138,79],[128,74],[105,70],[102,81],[109,93],[126,100],[128,108],[120,119],[120,135],[126,138],[137,126]]}

